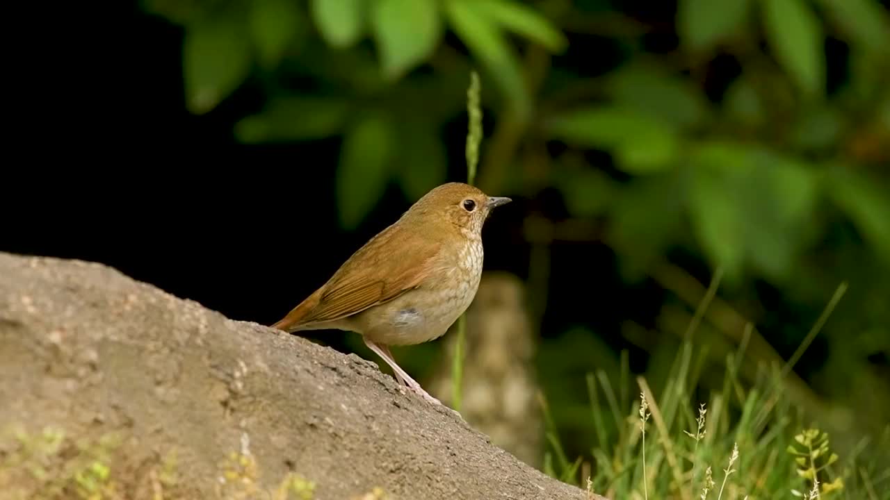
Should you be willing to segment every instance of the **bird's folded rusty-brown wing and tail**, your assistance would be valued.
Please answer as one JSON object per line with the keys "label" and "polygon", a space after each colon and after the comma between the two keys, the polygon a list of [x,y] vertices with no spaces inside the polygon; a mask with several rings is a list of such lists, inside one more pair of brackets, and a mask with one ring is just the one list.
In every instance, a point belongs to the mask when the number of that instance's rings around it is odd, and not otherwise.
{"label": "bird's folded rusty-brown wing and tail", "polygon": [[341,319],[390,301],[430,275],[441,246],[414,231],[391,226],[344,262],[314,294],[273,327],[292,329]]}

